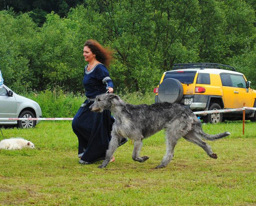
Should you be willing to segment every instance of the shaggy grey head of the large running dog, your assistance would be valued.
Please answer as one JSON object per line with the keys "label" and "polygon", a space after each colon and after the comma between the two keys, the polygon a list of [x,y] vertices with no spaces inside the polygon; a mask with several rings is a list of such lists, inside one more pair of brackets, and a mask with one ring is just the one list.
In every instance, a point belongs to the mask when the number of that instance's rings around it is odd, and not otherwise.
{"label": "shaggy grey head of the large running dog", "polygon": [[102,112],[104,109],[111,110],[112,104],[118,100],[120,100],[118,95],[112,93],[101,94],[95,98],[94,103],[89,107],[89,109],[94,112]]}

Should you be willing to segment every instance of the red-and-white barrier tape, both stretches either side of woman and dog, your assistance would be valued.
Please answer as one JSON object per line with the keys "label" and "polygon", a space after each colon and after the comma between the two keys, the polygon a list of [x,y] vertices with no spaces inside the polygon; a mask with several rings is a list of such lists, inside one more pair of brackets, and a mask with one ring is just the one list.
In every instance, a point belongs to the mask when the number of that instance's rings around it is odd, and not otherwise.
{"label": "red-and-white barrier tape, both stretches either side of woman and dog", "polygon": [[[198,112],[194,112],[194,114],[225,113],[225,112],[232,112],[232,111],[243,111],[245,109],[256,110],[255,107],[244,106],[243,108],[236,108],[236,109],[198,111]],[[0,118],[0,120],[3,120],[3,121],[7,121],[7,120],[73,120],[73,118]]]}

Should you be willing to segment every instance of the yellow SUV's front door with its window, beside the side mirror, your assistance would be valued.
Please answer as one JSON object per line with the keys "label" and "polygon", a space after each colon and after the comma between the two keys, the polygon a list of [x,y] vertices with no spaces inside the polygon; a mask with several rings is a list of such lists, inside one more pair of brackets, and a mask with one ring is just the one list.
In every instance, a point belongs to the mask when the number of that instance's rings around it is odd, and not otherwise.
{"label": "yellow SUV's front door with its window, beside the side mirror", "polygon": [[252,94],[250,89],[246,89],[245,79],[242,75],[230,74],[230,79],[234,91],[233,108],[251,106]]}

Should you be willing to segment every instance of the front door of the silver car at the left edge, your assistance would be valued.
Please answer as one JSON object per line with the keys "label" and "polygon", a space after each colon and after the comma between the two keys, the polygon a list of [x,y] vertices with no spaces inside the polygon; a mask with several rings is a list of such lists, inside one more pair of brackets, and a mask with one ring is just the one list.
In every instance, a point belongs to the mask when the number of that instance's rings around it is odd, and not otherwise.
{"label": "front door of the silver car at the left edge", "polygon": [[[5,87],[0,88],[0,118],[16,117],[16,99],[14,96],[9,97]],[[3,121],[10,122],[10,121]]]}

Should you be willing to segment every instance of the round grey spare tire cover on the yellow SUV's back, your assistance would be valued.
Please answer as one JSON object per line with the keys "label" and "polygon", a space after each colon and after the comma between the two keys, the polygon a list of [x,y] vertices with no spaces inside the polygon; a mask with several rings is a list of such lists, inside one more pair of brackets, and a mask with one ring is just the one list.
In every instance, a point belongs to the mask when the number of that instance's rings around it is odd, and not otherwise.
{"label": "round grey spare tire cover on the yellow SUV's back", "polygon": [[179,80],[165,79],[158,89],[158,101],[167,101],[170,103],[179,103],[183,97],[183,87]]}

